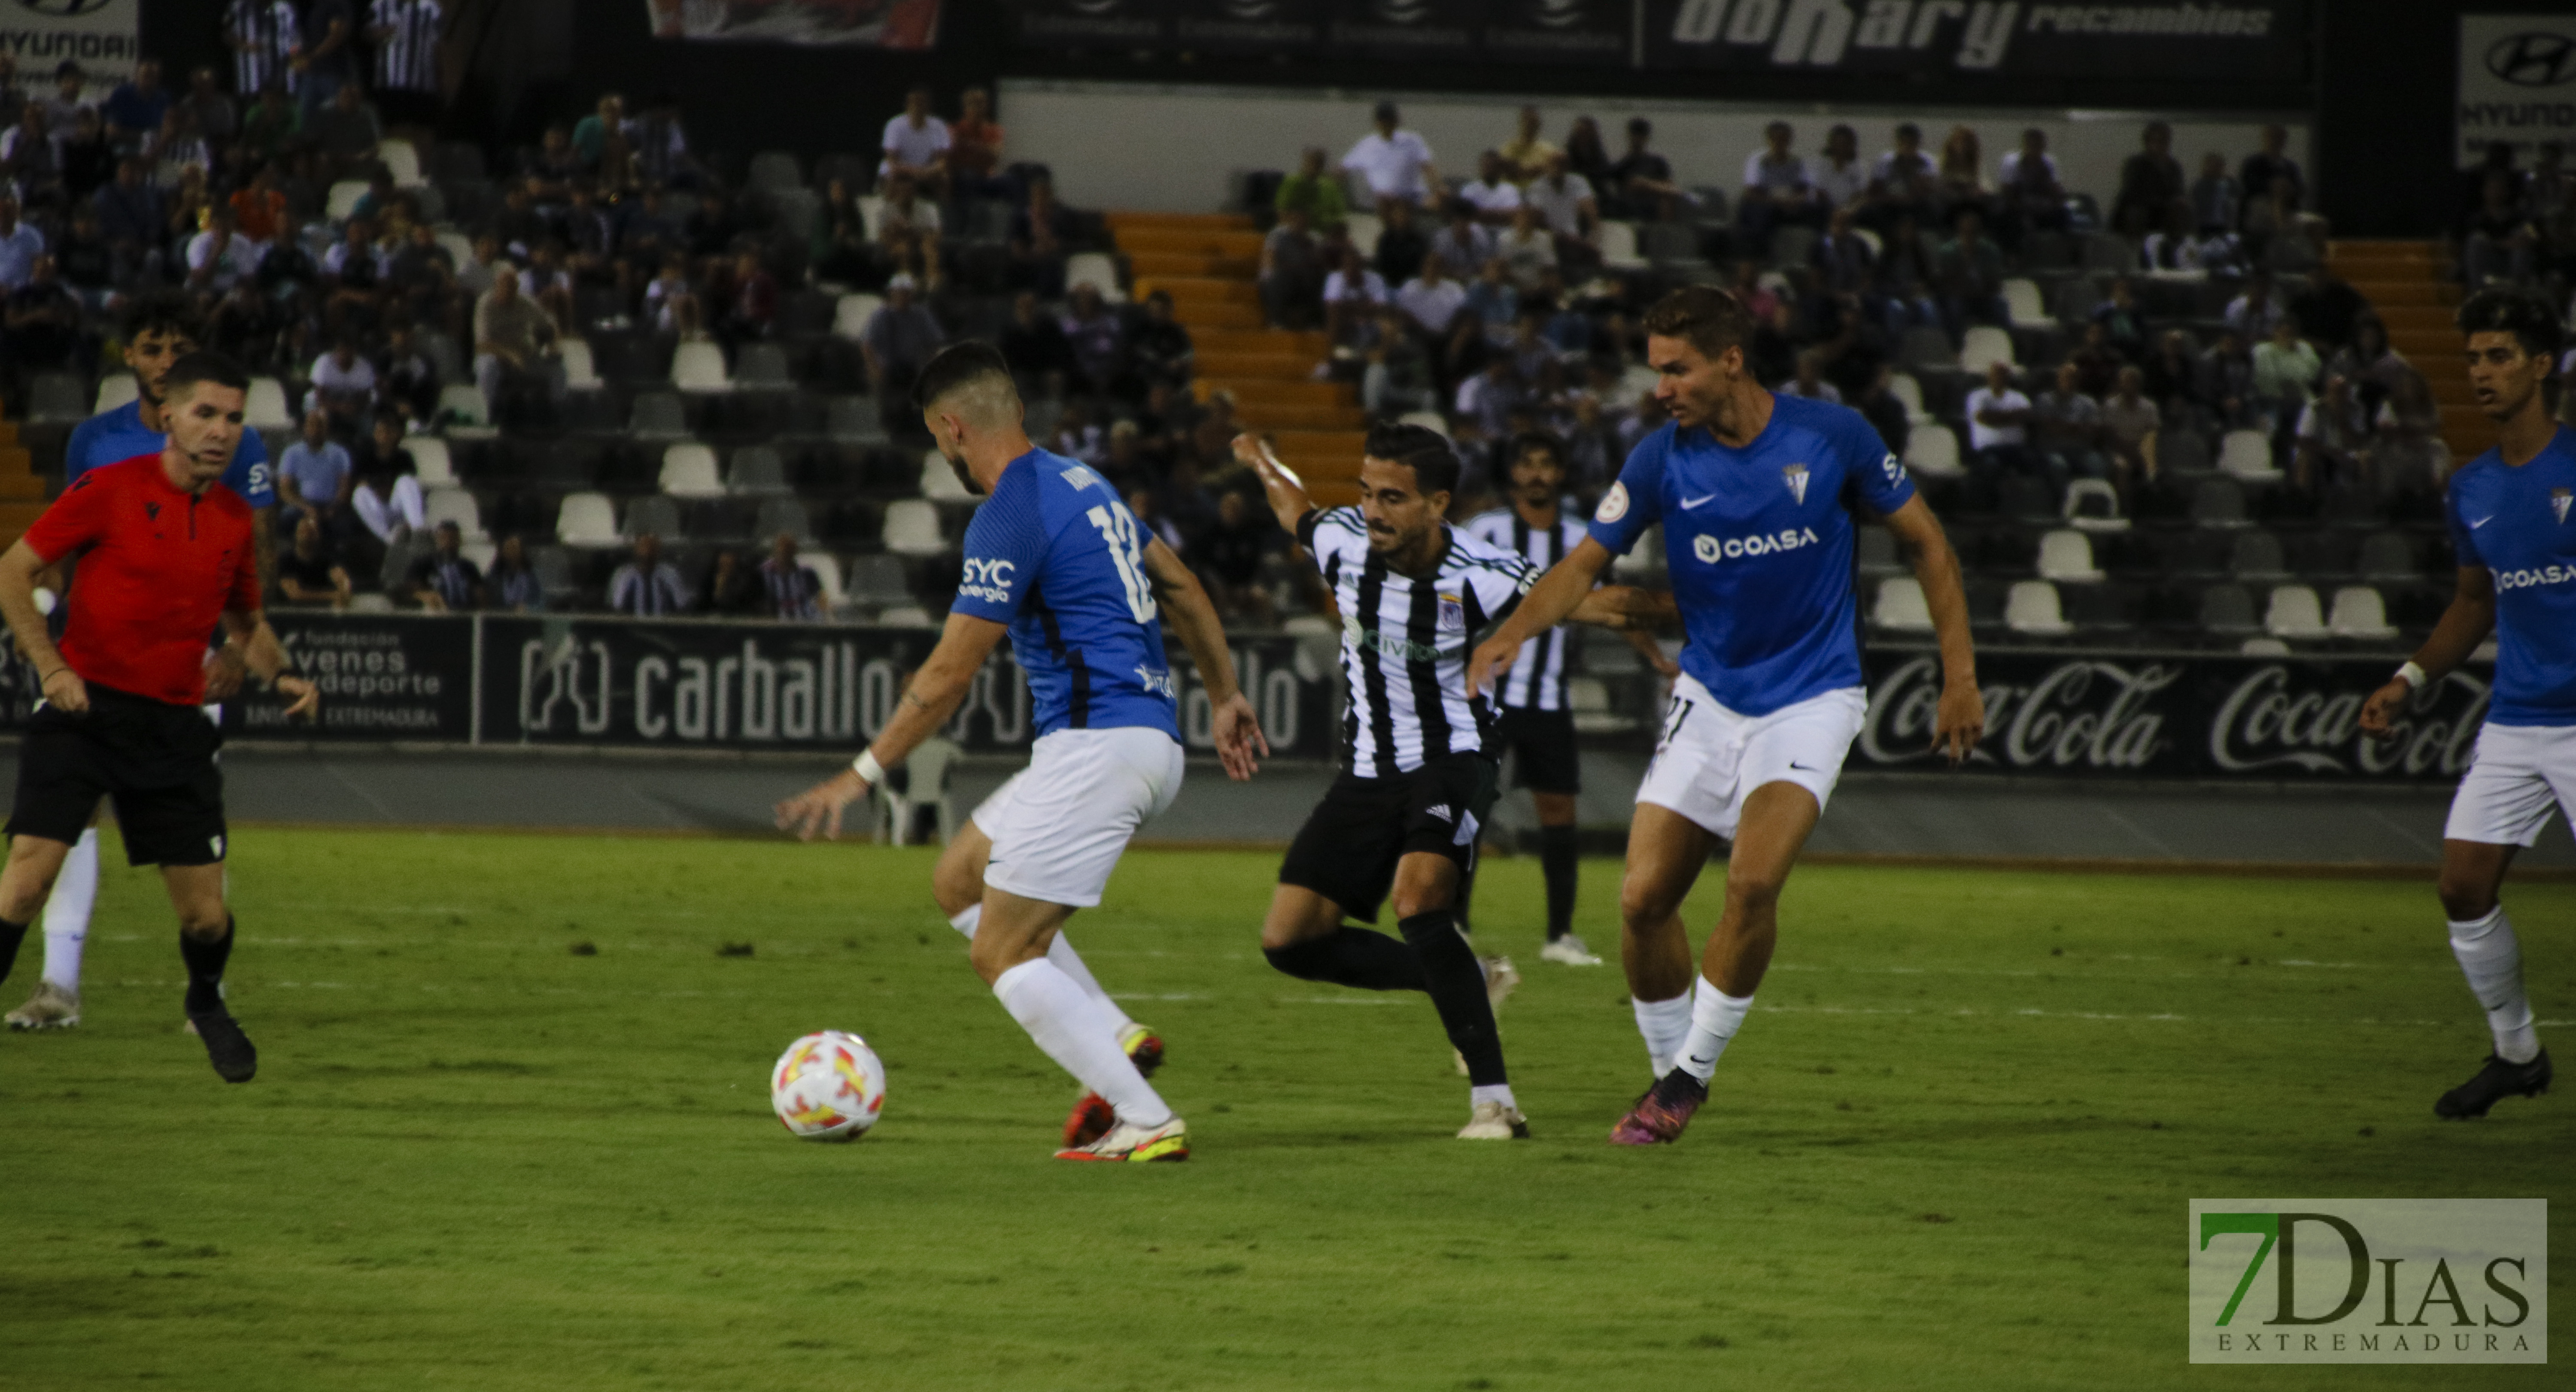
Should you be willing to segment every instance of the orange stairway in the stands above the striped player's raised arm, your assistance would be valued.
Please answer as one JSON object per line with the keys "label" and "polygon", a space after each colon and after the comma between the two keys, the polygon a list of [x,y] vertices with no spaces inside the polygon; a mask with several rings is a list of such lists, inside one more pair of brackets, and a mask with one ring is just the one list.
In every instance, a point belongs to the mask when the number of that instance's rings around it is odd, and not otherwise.
{"label": "orange stairway in the stands above the striped player's raised arm", "polygon": [[1172,317],[1198,345],[1198,397],[1234,394],[1244,425],[1278,438],[1280,461],[1316,503],[1355,503],[1365,415],[1347,382],[1316,382],[1321,333],[1262,325],[1255,281],[1262,235],[1239,214],[1108,214],[1128,260],[1133,299],[1172,296]]}

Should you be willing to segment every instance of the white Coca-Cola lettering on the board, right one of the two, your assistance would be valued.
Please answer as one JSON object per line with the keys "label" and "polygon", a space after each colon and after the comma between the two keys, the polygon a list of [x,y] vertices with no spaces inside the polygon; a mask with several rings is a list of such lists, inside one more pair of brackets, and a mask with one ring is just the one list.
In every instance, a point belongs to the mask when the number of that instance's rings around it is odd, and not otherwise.
{"label": "white Coca-Cola lettering on the board, right one of the two", "polygon": [[2396,737],[2362,735],[2370,691],[2321,673],[2262,665],[2228,688],[2210,719],[2210,763],[2226,773],[2458,773],[2478,745],[2488,683],[2450,673],[2427,683],[2396,717]]}

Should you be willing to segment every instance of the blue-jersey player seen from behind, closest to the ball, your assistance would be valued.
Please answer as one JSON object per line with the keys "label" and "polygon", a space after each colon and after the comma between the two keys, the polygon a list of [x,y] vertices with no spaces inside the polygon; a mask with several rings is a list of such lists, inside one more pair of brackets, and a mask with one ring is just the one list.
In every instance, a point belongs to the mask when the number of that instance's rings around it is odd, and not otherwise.
{"label": "blue-jersey player seen from behind, closest to the ball", "polygon": [[1100,902],[1136,827],[1180,791],[1162,616],[1208,688],[1226,773],[1249,778],[1270,748],[1190,567],[1136,523],[1108,479],[1028,443],[999,351],[943,348],[922,366],[914,400],[958,479],[989,495],[966,528],[966,575],[938,647],[876,742],[850,771],[781,802],[778,825],[806,840],[817,830],[840,835],[842,809],[948,722],[1010,634],[1036,699],[1038,742],[1028,771],[951,840],[938,871],[943,907],[1012,1018],[1100,1098],[1074,1108],[1056,1157],[1188,1160],[1188,1126],[1131,1057],[1133,1023],[1061,936],[1074,910]]}

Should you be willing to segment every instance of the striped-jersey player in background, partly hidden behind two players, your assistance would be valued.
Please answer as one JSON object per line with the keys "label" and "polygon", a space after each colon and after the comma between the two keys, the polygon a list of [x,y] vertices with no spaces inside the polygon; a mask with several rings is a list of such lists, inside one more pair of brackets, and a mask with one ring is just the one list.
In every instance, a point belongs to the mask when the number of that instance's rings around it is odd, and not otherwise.
{"label": "striped-jersey player in background, partly hidden behind two players", "polygon": [[[1584,539],[1584,521],[1566,516],[1564,449],[1548,436],[1520,436],[1510,451],[1510,508],[1494,508],[1466,521],[1466,534],[1492,541],[1533,567],[1548,570]],[[1664,657],[1654,634],[1628,629],[1628,642],[1664,678],[1680,665]],[[1548,629],[1520,644],[1520,657],[1494,686],[1494,758],[1517,755],[1512,781],[1530,789],[1538,807],[1538,866],[1548,882],[1548,946],[1538,956],[1566,967],[1600,967],[1602,959],[1574,936],[1574,794],[1582,791],[1582,753],[1574,748],[1574,706],[1569,686],[1569,634]],[[1458,892],[1461,920],[1476,882]]]}

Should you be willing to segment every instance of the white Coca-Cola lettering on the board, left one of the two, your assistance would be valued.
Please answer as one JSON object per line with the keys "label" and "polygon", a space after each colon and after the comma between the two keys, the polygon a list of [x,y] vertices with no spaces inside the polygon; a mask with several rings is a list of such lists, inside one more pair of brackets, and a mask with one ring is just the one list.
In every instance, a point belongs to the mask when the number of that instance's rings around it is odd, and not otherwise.
{"label": "white Coca-Cola lettering on the board, left one of the two", "polygon": [[[2004,768],[2148,768],[2172,748],[2156,696],[2182,678],[2166,662],[2071,660],[2032,683],[1984,688],[1986,737],[1971,763]],[[1932,758],[1940,714],[1940,660],[1914,657],[1870,691],[1860,755],[1870,763]]]}

